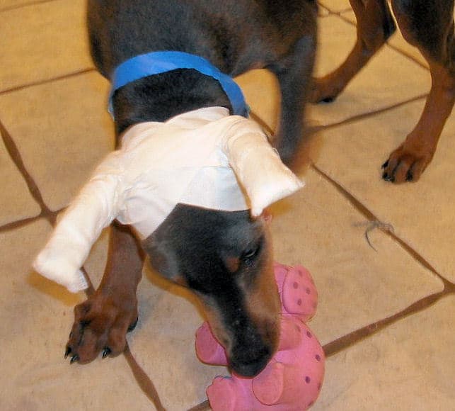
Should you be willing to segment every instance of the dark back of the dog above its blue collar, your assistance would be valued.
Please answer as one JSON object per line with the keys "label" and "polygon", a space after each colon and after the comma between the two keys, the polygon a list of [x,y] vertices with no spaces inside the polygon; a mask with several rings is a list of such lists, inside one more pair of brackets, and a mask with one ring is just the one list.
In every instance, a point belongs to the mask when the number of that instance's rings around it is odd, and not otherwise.
{"label": "dark back of the dog above its blue collar", "polygon": [[110,77],[130,57],[177,50],[235,76],[284,55],[301,37],[304,6],[311,2],[89,0],[93,60]]}

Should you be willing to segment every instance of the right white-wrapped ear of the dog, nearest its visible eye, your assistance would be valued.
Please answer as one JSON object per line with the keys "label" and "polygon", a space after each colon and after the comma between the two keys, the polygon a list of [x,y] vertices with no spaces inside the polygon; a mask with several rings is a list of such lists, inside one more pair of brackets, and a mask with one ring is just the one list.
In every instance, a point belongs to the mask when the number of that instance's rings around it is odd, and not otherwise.
{"label": "right white-wrapped ear of the dog, nearest its visible eye", "polygon": [[224,142],[224,153],[250,200],[252,217],[304,186],[255,126],[248,124],[250,130],[229,135]]}

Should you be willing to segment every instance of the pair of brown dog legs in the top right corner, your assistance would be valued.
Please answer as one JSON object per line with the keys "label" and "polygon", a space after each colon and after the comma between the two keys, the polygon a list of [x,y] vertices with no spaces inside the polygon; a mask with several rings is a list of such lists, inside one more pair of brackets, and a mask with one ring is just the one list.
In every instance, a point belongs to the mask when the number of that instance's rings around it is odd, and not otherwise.
{"label": "pair of brown dog legs in the top right corner", "polygon": [[[396,30],[386,0],[350,0],[357,42],[345,62],[316,79],[311,99],[332,101]],[[403,37],[430,66],[432,87],[420,120],[384,163],[383,178],[416,181],[431,162],[455,101],[454,0],[391,0]]]}

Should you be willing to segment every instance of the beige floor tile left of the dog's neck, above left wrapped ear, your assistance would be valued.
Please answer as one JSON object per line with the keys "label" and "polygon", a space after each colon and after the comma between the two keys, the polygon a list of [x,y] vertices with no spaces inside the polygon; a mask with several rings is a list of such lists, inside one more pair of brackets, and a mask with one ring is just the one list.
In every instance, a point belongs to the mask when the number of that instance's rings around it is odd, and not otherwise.
{"label": "beige floor tile left of the dog's neck, above left wrapped ear", "polygon": [[1,120],[53,210],[113,150],[107,97],[108,82],[95,72],[0,96]]}

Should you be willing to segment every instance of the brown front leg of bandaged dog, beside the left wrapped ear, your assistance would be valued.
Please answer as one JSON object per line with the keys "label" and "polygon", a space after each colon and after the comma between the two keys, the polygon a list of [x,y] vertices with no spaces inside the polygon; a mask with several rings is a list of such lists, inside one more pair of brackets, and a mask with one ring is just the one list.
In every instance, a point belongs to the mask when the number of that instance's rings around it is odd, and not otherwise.
{"label": "brown front leg of bandaged dog, beside the left wrapped ear", "polygon": [[128,227],[111,225],[108,263],[93,295],[74,308],[74,325],[65,356],[86,363],[103,350],[103,358],[125,349],[127,330],[137,322],[137,285],[143,257]]}

